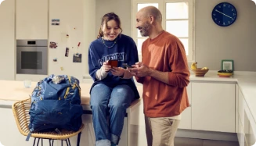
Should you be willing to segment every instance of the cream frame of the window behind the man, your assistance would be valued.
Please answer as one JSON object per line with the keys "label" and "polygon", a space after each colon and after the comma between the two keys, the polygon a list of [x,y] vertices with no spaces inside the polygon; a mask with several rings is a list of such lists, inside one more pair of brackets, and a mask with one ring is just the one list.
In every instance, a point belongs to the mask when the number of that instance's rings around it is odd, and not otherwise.
{"label": "cream frame of the window behind the man", "polygon": [[[132,0],[132,38],[134,39],[136,45],[137,44],[137,39],[138,38],[143,38],[143,37],[137,37],[137,29],[135,28],[136,26],[136,13],[137,13],[137,5],[138,4],[146,4],[146,3],[158,3],[158,9],[162,13],[163,20],[162,20],[162,27],[164,30],[166,30],[166,22],[169,20],[166,19],[166,3],[168,2],[188,2],[189,3],[189,55],[187,56],[188,62],[194,62],[195,60],[195,33],[194,33],[194,20],[195,20],[195,15],[194,15],[194,0]],[[145,37],[147,38],[147,37]],[[142,55],[139,54],[139,60],[142,60]]]}

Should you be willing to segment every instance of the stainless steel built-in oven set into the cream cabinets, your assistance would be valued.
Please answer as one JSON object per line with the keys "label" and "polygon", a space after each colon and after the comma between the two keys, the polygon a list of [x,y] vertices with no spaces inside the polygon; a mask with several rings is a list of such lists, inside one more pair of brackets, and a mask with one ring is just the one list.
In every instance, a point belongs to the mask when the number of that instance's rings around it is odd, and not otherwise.
{"label": "stainless steel built-in oven set into the cream cabinets", "polygon": [[47,75],[47,40],[16,41],[16,73]]}

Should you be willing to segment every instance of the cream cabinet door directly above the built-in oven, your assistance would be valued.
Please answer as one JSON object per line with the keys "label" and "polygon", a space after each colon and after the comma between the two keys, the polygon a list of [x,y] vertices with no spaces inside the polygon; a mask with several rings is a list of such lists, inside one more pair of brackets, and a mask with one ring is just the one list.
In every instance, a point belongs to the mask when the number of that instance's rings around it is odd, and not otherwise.
{"label": "cream cabinet door directly above the built-in oven", "polygon": [[16,1],[16,39],[48,39],[48,1]]}

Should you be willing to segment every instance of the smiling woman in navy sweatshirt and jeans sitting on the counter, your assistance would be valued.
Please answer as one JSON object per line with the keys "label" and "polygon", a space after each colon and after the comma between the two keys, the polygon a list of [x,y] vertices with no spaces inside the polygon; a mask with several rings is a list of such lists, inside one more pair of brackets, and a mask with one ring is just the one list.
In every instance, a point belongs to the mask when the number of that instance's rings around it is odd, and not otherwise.
{"label": "smiling woman in navy sweatshirt and jeans sitting on the counter", "polygon": [[[121,32],[119,17],[114,12],[106,13],[97,39],[89,46],[89,73],[94,80],[90,105],[96,146],[118,144],[126,109],[139,98],[132,74],[121,67],[123,63],[133,65],[139,61],[137,48],[132,38]],[[116,60],[117,66],[109,60]]]}

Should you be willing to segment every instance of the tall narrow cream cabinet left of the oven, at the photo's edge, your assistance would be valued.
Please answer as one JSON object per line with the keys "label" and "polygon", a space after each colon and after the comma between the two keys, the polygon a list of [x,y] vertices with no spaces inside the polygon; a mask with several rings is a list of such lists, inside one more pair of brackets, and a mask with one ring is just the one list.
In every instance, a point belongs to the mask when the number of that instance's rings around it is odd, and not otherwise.
{"label": "tall narrow cream cabinet left of the oven, at the photo's edge", "polygon": [[15,78],[15,0],[0,1],[0,80]]}

